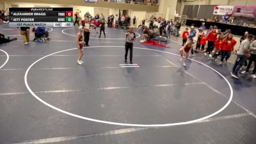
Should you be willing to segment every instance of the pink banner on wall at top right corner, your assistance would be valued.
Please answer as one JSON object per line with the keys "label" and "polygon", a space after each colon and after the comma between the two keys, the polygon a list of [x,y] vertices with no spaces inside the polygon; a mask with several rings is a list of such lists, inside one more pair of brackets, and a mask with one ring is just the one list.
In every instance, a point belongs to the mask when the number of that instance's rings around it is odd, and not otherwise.
{"label": "pink banner on wall at top right corner", "polygon": [[232,17],[254,20],[256,17],[256,6],[234,6]]}

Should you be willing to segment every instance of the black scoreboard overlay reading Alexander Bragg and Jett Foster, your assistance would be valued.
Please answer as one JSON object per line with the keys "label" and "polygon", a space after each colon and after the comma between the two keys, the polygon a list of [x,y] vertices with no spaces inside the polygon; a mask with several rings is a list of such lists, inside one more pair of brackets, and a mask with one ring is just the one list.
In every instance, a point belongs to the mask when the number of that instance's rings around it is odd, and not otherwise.
{"label": "black scoreboard overlay reading Alexander Bragg and Jett Foster", "polygon": [[9,8],[10,27],[73,27],[73,8]]}

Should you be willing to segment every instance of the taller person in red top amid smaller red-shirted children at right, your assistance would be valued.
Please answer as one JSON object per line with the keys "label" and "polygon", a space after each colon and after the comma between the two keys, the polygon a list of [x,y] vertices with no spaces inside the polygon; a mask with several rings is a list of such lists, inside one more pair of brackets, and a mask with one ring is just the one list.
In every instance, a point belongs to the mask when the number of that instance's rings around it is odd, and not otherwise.
{"label": "taller person in red top amid smaller red-shirted children at right", "polygon": [[209,56],[211,57],[211,52],[214,48],[214,42],[217,39],[217,26],[214,26],[212,31],[207,35],[206,40],[208,41],[208,47],[207,50],[205,51],[205,56],[207,55],[207,52],[209,54]]}

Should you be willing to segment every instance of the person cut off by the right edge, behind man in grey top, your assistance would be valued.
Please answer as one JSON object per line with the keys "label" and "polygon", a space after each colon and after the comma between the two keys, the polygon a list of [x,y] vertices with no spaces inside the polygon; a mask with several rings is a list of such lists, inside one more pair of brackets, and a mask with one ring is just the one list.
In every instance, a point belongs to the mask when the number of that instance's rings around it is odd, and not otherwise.
{"label": "person cut off by the right edge, behind man in grey top", "polygon": [[256,78],[256,36],[253,36],[253,42],[250,45],[250,50],[251,50],[251,57],[250,57],[250,61],[246,67],[246,70],[244,70],[243,72],[241,72],[242,74],[246,74],[247,72],[249,72],[249,69],[252,65],[252,62],[254,62],[254,68],[252,71],[252,77],[255,79]]}

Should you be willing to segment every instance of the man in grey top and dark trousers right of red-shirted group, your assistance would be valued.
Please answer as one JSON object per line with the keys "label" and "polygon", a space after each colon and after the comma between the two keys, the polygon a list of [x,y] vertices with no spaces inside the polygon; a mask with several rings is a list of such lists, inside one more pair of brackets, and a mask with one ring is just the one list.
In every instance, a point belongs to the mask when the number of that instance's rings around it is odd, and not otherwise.
{"label": "man in grey top and dark trousers right of red-shirted group", "polygon": [[234,64],[234,67],[232,68],[232,73],[231,73],[231,76],[236,79],[239,79],[237,74],[240,68],[243,66],[244,61],[246,60],[246,52],[250,51],[250,44],[252,40],[253,40],[253,35],[248,35],[248,37],[245,40],[243,40],[239,49],[237,50],[236,62]]}

